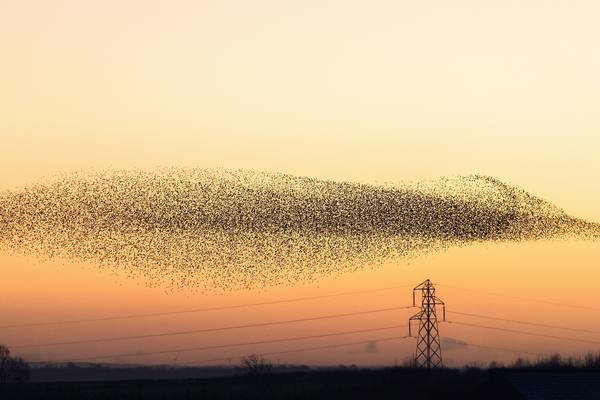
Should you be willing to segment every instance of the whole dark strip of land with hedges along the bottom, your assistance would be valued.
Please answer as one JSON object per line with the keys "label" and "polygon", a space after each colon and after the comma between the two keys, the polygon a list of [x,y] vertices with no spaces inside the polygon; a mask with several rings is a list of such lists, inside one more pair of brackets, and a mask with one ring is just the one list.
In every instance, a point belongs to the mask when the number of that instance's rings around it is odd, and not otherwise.
{"label": "whole dark strip of land with hedges along the bottom", "polygon": [[[356,366],[178,367],[34,365],[30,383],[0,384],[11,399],[600,399],[600,355],[490,368]],[[271,368],[272,367],[272,368]],[[259,371],[259,372],[257,372]]]}

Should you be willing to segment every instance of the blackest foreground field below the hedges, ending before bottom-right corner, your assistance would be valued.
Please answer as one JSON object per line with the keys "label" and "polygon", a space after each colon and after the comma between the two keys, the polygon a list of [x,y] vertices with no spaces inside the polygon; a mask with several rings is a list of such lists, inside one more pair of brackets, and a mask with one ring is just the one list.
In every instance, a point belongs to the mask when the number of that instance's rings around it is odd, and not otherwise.
{"label": "blackest foreground field below the hedges, ending before bottom-right corner", "polygon": [[8,399],[525,399],[506,372],[406,368],[7,385]]}

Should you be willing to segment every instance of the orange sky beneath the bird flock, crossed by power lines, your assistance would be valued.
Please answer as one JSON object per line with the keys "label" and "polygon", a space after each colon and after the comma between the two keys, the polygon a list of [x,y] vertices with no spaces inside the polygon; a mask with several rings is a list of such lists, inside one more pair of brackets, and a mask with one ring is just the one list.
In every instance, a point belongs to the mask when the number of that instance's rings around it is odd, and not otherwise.
{"label": "orange sky beneath the bird flock, crossed by power lines", "polygon": [[[448,319],[488,326],[526,330],[543,334],[599,340],[599,335],[568,332],[481,320],[452,315],[452,310],[527,320],[536,323],[598,330],[600,323],[589,318],[590,311],[532,301],[510,299],[487,293],[500,293],[548,300],[558,303],[598,307],[595,282],[598,280],[596,260],[600,249],[595,243],[522,243],[477,245],[451,249],[437,255],[423,256],[409,265],[389,265],[375,270],[348,274],[337,279],[323,279],[314,285],[271,288],[260,293],[233,292],[202,294],[191,291],[166,292],[164,288],[148,288],[141,282],[98,272],[93,266],[33,264],[31,260],[3,257],[5,290],[1,306],[3,323],[17,324],[39,321],[70,320],[149,312],[177,311],[212,306],[256,303],[302,296],[327,295],[347,291],[403,286],[369,294],[307,300],[246,309],[199,312],[126,321],[104,321],[65,326],[2,329],[3,341],[17,346],[55,341],[129,336],[136,334],[205,329],[231,325],[306,318],[372,309],[406,306],[411,303],[411,287],[421,279],[439,283],[438,295],[448,305]],[[464,289],[481,290],[484,293]],[[297,324],[248,328],[225,332],[146,338],[134,341],[20,349],[31,359],[69,359],[82,356],[156,351],[252,342],[285,337],[318,335],[346,330],[360,330],[403,325],[414,310],[398,310],[372,315],[311,321]],[[595,311],[592,313],[598,313]],[[505,332],[442,324],[444,337],[473,344],[499,346],[533,352],[561,351],[582,353],[598,345]],[[403,336],[406,328],[348,336],[312,339],[290,343],[254,345],[230,349],[180,352],[144,357],[115,358],[104,361],[167,362],[177,357],[179,363],[272,352],[332,343]],[[411,339],[380,343],[379,352],[366,352],[366,345],[328,351],[279,355],[280,362],[290,363],[361,363],[386,364],[402,362],[413,350]],[[448,362],[511,360],[514,354],[502,351],[449,349]],[[235,361],[234,361],[235,362]]]}

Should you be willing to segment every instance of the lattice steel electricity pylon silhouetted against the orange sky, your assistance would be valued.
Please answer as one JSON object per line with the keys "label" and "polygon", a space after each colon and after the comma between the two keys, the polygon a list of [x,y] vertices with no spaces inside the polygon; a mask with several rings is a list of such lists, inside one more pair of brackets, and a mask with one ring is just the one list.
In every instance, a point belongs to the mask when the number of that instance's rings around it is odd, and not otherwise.
{"label": "lattice steel electricity pylon silhouetted against the orange sky", "polygon": [[437,326],[436,306],[442,306],[443,321],[445,321],[446,305],[435,296],[435,287],[429,279],[413,289],[413,306],[416,306],[418,291],[421,292],[421,310],[408,320],[408,335],[411,337],[411,322],[419,321],[415,365],[418,368],[442,368],[442,346]]}

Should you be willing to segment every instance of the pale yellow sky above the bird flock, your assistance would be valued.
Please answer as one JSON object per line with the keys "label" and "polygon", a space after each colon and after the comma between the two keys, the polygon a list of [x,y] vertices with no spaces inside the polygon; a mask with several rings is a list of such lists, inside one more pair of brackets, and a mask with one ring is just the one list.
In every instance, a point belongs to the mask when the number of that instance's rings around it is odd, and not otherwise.
{"label": "pale yellow sky above the bird flock", "polygon": [[2,187],[482,173],[600,219],[597,1],[4,1]]}

